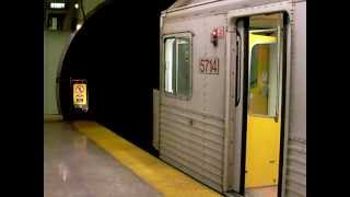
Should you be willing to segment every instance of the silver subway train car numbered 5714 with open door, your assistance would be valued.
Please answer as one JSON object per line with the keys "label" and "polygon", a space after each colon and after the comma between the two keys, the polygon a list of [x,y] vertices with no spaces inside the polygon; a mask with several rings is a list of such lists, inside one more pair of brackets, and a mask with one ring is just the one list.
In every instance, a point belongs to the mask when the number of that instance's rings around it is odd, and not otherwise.
{"label": "silver subway train car numbered 5714 with open door", "polygon": [[160,18],[160,159],[233,196],[306,196],[306,0],[177,0]]}

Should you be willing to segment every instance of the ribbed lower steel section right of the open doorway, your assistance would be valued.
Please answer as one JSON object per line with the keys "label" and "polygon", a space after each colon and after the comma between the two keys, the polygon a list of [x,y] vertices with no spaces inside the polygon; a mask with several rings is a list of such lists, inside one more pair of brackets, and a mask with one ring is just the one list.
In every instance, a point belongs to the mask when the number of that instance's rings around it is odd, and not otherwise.
{"label": "ribbed lower steel section right of the open doorway", "polygon": [[285,189],[287,197],[306,196],[306,140],[289,140]]}

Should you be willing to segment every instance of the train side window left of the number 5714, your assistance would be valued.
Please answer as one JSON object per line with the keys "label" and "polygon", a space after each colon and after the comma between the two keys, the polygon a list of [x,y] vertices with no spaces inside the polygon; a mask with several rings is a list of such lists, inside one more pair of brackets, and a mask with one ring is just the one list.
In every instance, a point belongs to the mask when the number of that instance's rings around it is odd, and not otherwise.
{"label": "train side window left of the number 5714", "polygon": [[165,93],[177,97],[190,96],[190,53],[189,35],[174,35],[164,39]]}

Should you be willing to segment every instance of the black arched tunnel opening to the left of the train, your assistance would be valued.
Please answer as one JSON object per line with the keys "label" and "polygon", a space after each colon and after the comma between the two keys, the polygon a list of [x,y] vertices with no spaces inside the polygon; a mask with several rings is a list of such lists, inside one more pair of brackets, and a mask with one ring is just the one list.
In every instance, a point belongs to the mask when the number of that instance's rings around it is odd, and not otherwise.
{"label": "black arched tunnel opening to the left of the train", "polygon": [[[88,16],[66,51],[59,74],[63,119],[95,120],[156,154],[152,91],[160,86],[160,13],[173,2],[110,1]],[[70,79],[88,80],[88,113],[73,108]]]}

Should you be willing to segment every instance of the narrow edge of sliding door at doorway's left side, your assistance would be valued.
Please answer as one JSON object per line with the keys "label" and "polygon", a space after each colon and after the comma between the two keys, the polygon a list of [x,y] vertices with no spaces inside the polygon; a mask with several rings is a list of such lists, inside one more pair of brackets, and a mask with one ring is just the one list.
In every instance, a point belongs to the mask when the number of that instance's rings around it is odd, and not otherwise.
{"label": "narrow edge of sliding door at doorway's left side", "polygon": [[246,135],[247,128],[246,116],[247,112],[247,82],[248,82],[248,18],[236,21],[236,67],[235,67],[235,90],[234,90],[234,148],[233,148],[233,176],[232,190],[235,194],[244,195],[245,189],[245,152],[246,152]]}

